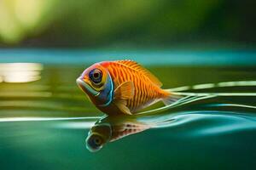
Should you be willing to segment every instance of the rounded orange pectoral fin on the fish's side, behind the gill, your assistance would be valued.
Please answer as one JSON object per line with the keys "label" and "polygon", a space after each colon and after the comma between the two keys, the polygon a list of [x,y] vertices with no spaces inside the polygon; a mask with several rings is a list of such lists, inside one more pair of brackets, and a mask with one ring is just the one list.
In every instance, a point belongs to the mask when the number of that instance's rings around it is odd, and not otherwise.
{"label": "rounded orange pectoral fin on the fish's side, behind the gill", "polygon": [[116,100],[119,99],[131,99],[131,97],[134,94],[134,86],[133,82],[123,82],[114,90],[114,96],[113,98]]}

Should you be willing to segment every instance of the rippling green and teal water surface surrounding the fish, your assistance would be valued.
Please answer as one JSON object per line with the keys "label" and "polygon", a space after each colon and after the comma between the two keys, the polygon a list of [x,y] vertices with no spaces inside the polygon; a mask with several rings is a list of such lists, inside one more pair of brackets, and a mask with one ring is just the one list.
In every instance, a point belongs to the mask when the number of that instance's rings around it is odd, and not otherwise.
{"label": "rippling green and teal water surface surrounding the fish", "polygon": [[[91,63],[125,54],[159,77],[163,88],[189,86],[177,93],[210,97],[139,116],[102,117],[75,79]],[[15,76],[18,66],[0,68],[1,169],[253,169],[255,59],[254,52],[4,50],[2,64],[33,62],[41,68],[31,76],[37,81],[23,83],[7,78],[24,76]],[[191,89],[205,83],[214,84]],[[108,136],[101,150],[87,150],[89,131]]]}

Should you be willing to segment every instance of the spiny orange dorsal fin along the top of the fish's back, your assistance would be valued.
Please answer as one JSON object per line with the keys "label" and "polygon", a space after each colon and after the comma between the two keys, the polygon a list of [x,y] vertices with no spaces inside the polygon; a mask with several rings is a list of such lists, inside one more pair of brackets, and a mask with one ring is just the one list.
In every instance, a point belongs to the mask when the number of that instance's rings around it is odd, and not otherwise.
{"label": "spiny orange dorsal fin along the top of the fish's back", "polygon": [[119,63],[121,65],[125,65],[125,66],[133,69],[134,71],[138,71],[138,72],[142,73],[144,76],[148,77],[148,79],[151,82],[153,82],[155,85],[157,85],[158,87],[162,86],[162,82],[160,82],[160,80],[157,77],[155,77],[150,71],[145,69],[142,65],[137,64],[136,61],[125,59],[125,60],[117,60],[115,62]]}

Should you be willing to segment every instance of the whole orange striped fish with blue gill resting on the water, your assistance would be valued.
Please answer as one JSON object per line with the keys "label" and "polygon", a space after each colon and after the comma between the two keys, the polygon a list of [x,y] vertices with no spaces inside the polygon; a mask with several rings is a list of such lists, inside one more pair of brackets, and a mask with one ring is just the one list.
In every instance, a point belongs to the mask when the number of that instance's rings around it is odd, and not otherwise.
{"label": "whole orange striped fish with blue gill resting on the water", "polygon": [[170,105],[181,98],[162,89],[157,77],[129,59],[90,65],[76,82],[96,108],[107,115],[133,115],[160,100]]}

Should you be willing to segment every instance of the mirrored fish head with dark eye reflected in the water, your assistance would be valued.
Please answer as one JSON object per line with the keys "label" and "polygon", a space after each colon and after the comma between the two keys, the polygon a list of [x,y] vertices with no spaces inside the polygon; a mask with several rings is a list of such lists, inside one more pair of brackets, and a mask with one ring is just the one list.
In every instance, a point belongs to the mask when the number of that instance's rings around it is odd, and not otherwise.
{"label": "mirrored fish head with dark eye reflected in the water", "polygon": [[91,152],[101,150],[111,138],[111,134],[111,126],[106,123],[91,127],[86,139],[86,148]]}

